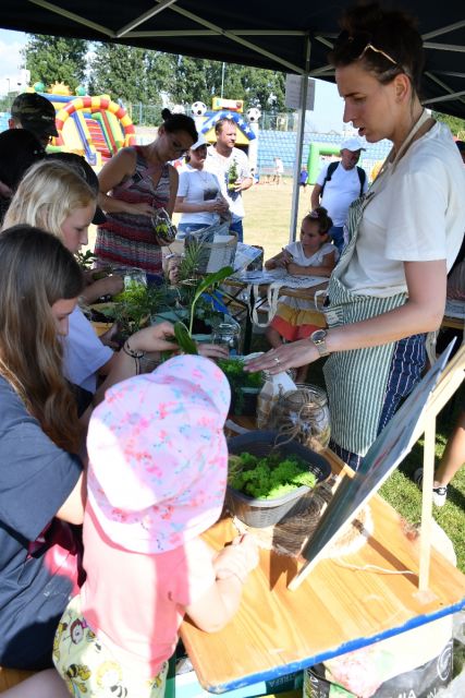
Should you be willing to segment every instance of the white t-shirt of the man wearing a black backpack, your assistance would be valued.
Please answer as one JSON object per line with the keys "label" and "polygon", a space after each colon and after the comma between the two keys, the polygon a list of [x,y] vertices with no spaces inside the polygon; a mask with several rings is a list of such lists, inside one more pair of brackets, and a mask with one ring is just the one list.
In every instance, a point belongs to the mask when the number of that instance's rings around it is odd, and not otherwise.
{"label": "white t-shirt of the man wearing a black backpack", "polygon": [[[325,178],[328,172],[328,165],[321,169],[318,174],[317,184],[323,185]],[[368,178],[365,177],[363,194],[368,189]],[[358,178],[357,168],[346,170],[341,164],[333,171],[329,182],[325,184],[321,206],[328,210],[333,226],[341,227],[347,217],[348,206],[360,195],[360,180]]]}

